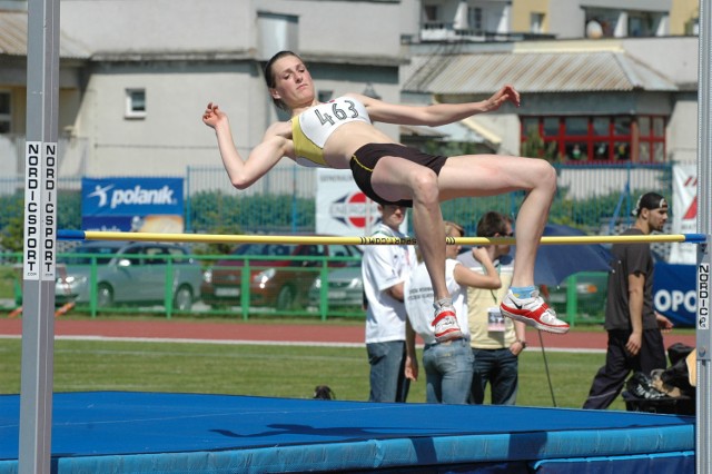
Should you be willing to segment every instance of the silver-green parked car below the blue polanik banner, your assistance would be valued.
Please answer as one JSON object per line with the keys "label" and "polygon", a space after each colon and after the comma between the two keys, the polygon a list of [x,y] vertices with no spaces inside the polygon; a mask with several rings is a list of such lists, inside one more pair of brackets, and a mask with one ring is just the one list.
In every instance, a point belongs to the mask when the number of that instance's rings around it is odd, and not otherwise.
{"label": "silver-green parked car below the blue polanik banner", "polygon": [[57,304],[89,303],[96,259],[97,306],[164,304],[168,260],[172,264],[169,295],[174,308],[189,310],[199,296],[202,269],[184,246],[174,244],[92,241],[58,261]]}

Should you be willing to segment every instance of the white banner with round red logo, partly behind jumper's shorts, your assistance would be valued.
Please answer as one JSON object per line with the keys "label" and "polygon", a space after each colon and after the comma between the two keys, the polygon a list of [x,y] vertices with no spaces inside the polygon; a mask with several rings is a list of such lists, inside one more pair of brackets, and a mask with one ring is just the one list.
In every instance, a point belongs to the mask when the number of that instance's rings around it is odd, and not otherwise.
{"label": "white banner with round red logo, partly behind jumper's shorts", "polygon": [[[317,169],[316,233],[369,236],[380,220],[378,205],[358,189],[349,170]],[[407,234],[404,223],[400,231]]]}

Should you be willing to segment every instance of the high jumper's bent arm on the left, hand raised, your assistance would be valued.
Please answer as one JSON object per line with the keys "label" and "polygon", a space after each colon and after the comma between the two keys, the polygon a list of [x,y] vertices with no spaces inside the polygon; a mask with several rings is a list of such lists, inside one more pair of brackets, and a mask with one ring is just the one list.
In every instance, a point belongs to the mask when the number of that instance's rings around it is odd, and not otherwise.
{"label": "high jumper's bent arm on the left, hand raised", "polygon": [[247,160],[243,160],[235,147],[228,117],[217,103],[208,103],[202,113],[202,122],[215,129],[222,165],[230,182],[238,189],[251,186],[286,155],[287,140],[275,134],[275,126],[265,132],[263,141],[250,151]]}

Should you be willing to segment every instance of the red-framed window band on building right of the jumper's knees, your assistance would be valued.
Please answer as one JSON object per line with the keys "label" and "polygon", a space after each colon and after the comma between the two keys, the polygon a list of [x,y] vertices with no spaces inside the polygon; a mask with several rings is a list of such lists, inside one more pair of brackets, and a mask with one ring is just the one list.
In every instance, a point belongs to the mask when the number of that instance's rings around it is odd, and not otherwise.
{"label": "red-framed window band on building right of the jumper's knees", "polygon": [[665,161],[665,117],[521,117],[522,141],[541,137],[564,161]]}

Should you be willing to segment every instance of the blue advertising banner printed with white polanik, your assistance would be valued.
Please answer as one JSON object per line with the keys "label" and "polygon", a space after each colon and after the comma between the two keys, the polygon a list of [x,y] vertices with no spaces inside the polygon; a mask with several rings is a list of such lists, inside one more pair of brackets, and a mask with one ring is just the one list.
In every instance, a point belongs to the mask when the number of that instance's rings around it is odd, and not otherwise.
{"label": "blue advertising banner printed with white polanik", "polygon": [[82,229],[180,234],[182,188],[182,178],[82,178]]}

